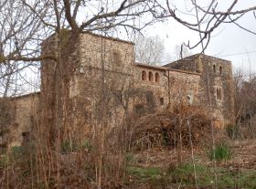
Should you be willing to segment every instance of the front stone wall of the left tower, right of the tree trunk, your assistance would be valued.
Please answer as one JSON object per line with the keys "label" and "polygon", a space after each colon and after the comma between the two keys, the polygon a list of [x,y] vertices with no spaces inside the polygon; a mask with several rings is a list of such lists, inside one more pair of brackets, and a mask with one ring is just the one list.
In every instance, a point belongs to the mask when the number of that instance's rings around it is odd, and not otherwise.
{"label": "front stone wall of the left tower, right of the tree trunk", "polygon": [[83,33],[78,50],[80,63],[70,82],[70,98],[75,125],[83,128],[78,133],[88,136],[95,125],[114,127],[123,121],[123,102],[118,97],[132,87],[133,43]]}

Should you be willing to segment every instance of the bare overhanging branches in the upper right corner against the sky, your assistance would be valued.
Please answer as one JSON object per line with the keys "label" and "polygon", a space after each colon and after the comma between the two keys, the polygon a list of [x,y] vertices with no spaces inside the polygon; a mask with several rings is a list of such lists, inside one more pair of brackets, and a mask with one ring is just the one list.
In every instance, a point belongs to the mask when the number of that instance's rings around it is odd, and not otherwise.
{"label": "bare overhanging branches in the upper right corner against the sky", "polygon": [[[185,10],[178,9],[175,4],[166,1],[169,15],[177,22],[186,26],[188,29],[199,33],[199,40],[195,44],[187,42],[187,47],[194,48],[198,45],[202,46],[202,52],[208,47],[210,38],[214,30],[223,24],[235,24],[241,29],[255,35],[254,31],[240,26],[238,21],[246,14],[253,14],[255,17],[256,6],[238,7],[239,1],[232,0],[228,5],[221,6],[218,0],[208,0],[206,3],[198,3],[197,0],[189,0],[185,2]],[[187,16],[189,15],[189,16]]]}

